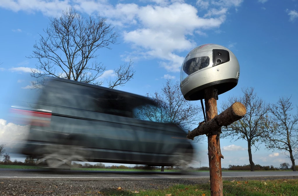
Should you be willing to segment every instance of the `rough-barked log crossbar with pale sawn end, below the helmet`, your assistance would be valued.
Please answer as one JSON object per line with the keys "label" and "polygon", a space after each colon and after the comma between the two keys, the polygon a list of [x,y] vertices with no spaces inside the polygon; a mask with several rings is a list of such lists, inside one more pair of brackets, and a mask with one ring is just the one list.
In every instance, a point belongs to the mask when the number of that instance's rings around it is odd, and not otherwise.
{"label": "rough-barked log crossbar with pale sawn end, below the helmet", "polygon": [[209,134],[214,130],[218,130],[222,126],[228,126],[237,120],[241,119],[246,114],[246,108],[240,102],[235,102],[221,114],[215,116],[213,119],[204,123],[193,131],[188,131],[187,138],[194,139],[199,135]]}

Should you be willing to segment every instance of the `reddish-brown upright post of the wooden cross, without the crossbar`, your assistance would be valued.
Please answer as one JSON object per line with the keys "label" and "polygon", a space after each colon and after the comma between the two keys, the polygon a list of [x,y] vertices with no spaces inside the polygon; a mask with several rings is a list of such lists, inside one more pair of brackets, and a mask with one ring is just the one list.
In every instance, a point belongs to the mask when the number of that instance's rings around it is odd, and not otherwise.
{"label": "reddish-brown upright post of the wooden cross, without the crossbar", "polygon": [[[214,87],[205,90],[206,121],[210,121],[217,115],[217,103]],[[207,123],[206,123],[207,124]],[[208,134],[208,157],[210,168],[211,196],[223,195],[223,182],[221,178],[221,148],[219,143],[220,127],[213,127],[213,132]]]}

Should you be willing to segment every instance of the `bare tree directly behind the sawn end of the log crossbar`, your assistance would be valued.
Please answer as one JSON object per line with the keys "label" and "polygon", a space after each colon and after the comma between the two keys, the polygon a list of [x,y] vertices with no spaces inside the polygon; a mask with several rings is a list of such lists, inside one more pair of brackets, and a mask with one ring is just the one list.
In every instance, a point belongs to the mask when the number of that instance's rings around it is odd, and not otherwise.
{"label": "bare tree directly behind the sawn end of the log crossbar", "polygon": [[231,138],[234,141],[238,139],[247,141],[250,170],[254,171],[252,147],[259,150],[260,140],[269,126],[268,106],[257,96],[253,87],[242,88],[242,92],[242,96],[230,97],[221,104],[223,111],[235,102],[240,102],[246,107],[246,115],[243,118],[227,127],[222,127],[221,137]]}

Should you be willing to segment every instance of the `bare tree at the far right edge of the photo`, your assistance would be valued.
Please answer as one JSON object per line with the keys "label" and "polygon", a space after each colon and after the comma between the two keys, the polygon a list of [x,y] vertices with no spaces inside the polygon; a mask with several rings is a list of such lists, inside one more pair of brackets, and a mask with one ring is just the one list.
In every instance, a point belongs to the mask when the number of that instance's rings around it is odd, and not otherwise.
{"label": "bare tree at the far right edge of the photo", "polygon": [[270,113],[272,123],[266,135],[266,148],[282,150],[291,159],[293,171],[296,171],[295,159],[298,156],[298,107],[297,113],[292,114],[294,109],[290,98],[281,97],[277,104],[271,104]]}

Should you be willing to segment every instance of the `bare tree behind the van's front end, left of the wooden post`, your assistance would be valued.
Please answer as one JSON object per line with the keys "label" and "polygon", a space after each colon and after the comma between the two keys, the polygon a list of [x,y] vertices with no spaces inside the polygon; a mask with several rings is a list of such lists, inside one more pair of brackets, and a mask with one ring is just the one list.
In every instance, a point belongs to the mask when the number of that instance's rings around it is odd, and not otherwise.
{"label": "bare tree behind the van's front end, left of the wooden post", "polygon": [[[191,126],[197,125],[201,117],[201,107],[186,101],[181,93],[179,82],[173,83],[167,79],[162,87],[162,92],[155,92],[154,95],[147,93],[148,98],[153,98],[155,106],[142,106],[136,118],[162,123],[173,123],[185,129],[192,130]],[[195,142],[203,141],[203,137],[196,137]]]}

